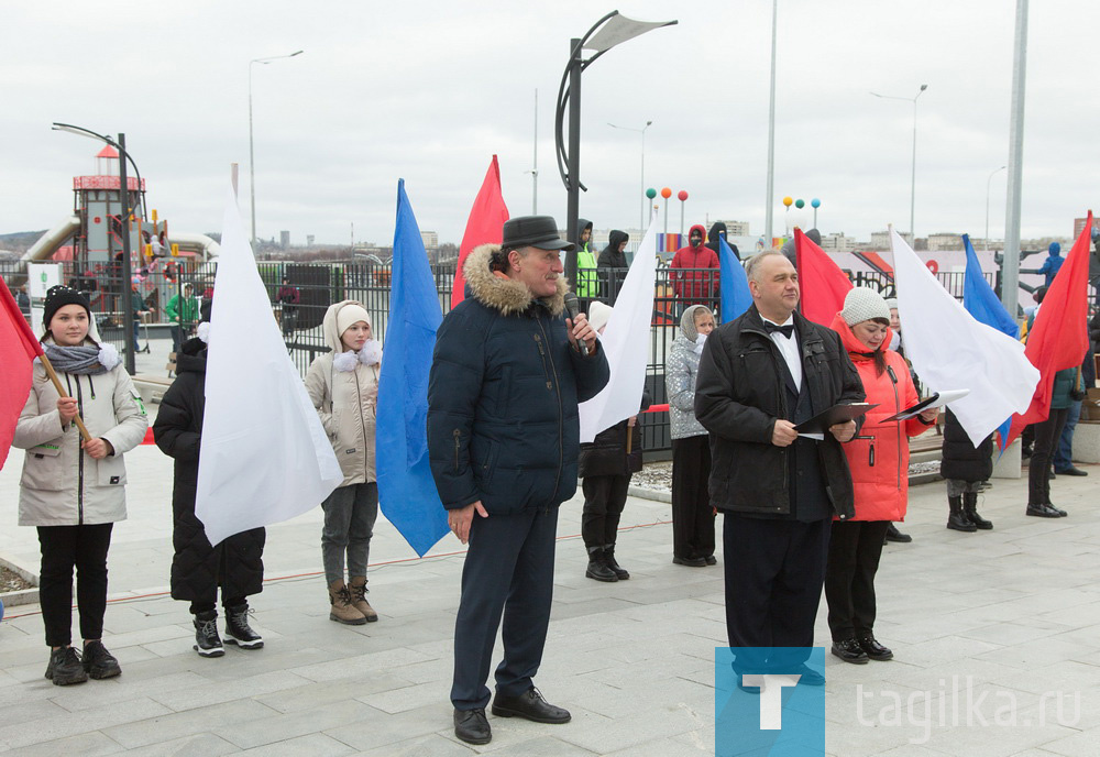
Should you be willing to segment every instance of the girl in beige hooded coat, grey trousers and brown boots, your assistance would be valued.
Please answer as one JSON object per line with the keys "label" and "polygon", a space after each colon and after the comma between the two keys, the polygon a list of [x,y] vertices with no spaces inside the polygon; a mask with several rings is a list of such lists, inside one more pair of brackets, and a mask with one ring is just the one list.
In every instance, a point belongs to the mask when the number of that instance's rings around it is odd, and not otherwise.
{"label": "girl in beige hooded coat, grey trousers and brown boots", "polygon": [[[317,408],[344,480],[321,503],[321,558],[329,586],[329,619],[363,625],[378,619],[366,601],[366,563],[378,517],[374,427],[382,345],[361,303],[331,305],[321,323],[331,352],[306,373],[306,391]],[[344,581],[346,556],[348,581]]]}

